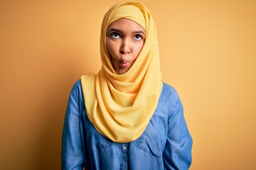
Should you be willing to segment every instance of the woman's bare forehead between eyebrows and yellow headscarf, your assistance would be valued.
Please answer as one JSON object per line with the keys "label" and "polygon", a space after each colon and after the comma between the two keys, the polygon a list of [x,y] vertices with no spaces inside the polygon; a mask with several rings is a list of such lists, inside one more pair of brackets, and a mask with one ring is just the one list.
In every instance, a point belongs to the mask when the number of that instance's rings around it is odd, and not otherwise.
{"label": "woman's bare forehead between eyebrows and yellow headscarf", "polygon": [[107,27],[107,31],[115,28],[118,30],[141,30],[145,33],[145,30],[142,26],[140,26],[138,23],[135,21],[132,21],[127,18],[121,18],[117,21],[114,21],[113,23],[110,24],[110,26]]}

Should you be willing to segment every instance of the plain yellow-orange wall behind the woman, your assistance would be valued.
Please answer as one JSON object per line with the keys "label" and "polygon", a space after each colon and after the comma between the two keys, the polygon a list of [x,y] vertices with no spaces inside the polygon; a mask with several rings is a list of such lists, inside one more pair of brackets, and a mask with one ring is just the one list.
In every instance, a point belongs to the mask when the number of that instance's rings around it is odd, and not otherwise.
{"label": "plain yellow-orange wall behind the woman", "polygon": [[[117,1],[0,1],[0,169],[60,169],[71,87],[100,69]],[[193,137],[191,169],[256,169],[256,1],[146,1],[163,81]]]}

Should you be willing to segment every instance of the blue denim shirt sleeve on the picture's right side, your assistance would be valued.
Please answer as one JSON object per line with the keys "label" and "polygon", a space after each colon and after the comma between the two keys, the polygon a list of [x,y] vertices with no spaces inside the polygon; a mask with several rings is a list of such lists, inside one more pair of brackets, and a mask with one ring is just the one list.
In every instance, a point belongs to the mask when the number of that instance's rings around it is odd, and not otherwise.
{"label": "blue denim shirt sleeve on the picture's right side", "polygon": [[192,156],[192,138],[188,132],[183,106],[176,94],[176,102],[171,106],[168,119],[166,147],[164,149],[165,169],[189,169]]}

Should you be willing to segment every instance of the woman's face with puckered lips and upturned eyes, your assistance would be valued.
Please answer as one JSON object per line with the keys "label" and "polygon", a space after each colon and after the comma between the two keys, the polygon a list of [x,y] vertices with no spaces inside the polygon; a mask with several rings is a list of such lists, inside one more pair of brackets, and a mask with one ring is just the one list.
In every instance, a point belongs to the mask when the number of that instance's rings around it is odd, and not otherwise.
{"label": "woman's face with puckered lips and upturned eyes", "polygon": [[137,59],[146,38],[138,23],[121,18],[107,28],[106,46],[117,74],[126,73]]}

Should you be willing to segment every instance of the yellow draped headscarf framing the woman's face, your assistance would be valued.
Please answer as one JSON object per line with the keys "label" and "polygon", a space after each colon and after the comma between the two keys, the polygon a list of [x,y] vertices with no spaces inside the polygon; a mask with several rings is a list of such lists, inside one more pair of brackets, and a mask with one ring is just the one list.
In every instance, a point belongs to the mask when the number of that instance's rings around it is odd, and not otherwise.
{"label": "yellow draped headscarf framing the woman's face", "polygon": [[[120,18],[135,21],[146,30],[141,52],[124,74],[114,71],[106,47],[107,27]],[[98,132],[114,142],[137,140],[154,114],[162,88],[156,27],[149,10],[131,1],[112,6],[102,21],[100,55],[100,72],[81,77],[88,118]]]}

